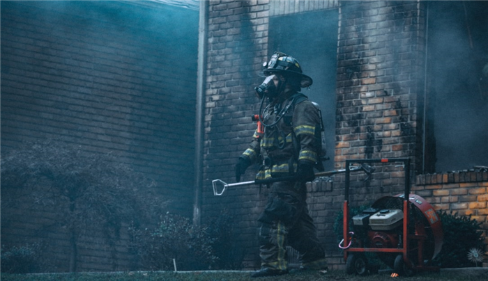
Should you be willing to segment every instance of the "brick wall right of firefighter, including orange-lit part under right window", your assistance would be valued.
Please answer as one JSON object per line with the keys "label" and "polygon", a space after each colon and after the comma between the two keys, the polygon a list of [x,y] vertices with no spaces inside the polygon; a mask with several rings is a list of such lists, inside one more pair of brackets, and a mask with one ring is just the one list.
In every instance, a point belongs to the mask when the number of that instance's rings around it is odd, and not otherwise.
{"label": "brick wall right of firefighter, including orange-lit part under right window", "polygon": [[[409,176],[420,174],[425,4],[341,2],[336,168],[344,168],[345,159],[410,157]],[[356,182],[357,196],[352,196],[351,204],[403,191],[403,177],[402,169],[395,165],[376,167],[371,181]],[[341,188],[342,180],[335,178],[333,190]],[[486,172],[419,175],[413,192],[425,196],[437,209],[472,214],[486,231],[486,183]],[[331,206],[338,209],[334,200]]]}

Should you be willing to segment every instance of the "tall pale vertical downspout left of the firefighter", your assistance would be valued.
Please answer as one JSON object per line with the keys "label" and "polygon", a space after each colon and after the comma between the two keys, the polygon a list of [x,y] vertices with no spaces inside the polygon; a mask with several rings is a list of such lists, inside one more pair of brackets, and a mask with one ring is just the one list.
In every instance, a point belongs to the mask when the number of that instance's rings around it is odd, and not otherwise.
{"label": "tall pale vertical downspout left of the firefighter", "polygon": [[205,68],[208,22],[208,0],[200,0],[198,28],[197,100],[195,115],[195,179],[193,225],[201,223],[201,189],[203,188]]}

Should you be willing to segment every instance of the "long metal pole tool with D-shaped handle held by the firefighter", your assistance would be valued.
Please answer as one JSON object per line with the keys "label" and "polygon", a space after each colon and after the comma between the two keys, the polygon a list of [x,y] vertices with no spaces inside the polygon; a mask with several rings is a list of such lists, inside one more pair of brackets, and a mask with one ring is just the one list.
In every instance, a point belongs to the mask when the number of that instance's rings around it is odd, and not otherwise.
{"label": "long metal pole tool with D-shaped handle held by the firefighter", "polygon": [[[369,179],[369,176],[374,172],[374,167],[369,166],[365,163],[363,163],[361,166],[350,166],[349,167],[350,171],[356,171],[356,170],[363,170],[366,172],[368,175],[367,179]],[[341,172],[346,172],[346,169],[341,169],[341,170],[330,170],[326,172],[317,172],[315,173],[315,177],[328,177],[331,175],[339,174]],[[224,194],[225,189],[229,187],[234,187],[234,186],[249,186],[252,184],[272,184],[273,182],[287,182],[287,181],[295,181],[298,178],[296,176],[287,176],[287,177],[272,177],[270,179],[256,179],[253,181],[249,182],[236,182],[234,184],[227,184],[226,182],[222,181],[222,179],[214,179],[212,181],[212,186],[213,186],[213,195],[215,196],[220,196]],[[222,190],[219,192],[219,190]]]}

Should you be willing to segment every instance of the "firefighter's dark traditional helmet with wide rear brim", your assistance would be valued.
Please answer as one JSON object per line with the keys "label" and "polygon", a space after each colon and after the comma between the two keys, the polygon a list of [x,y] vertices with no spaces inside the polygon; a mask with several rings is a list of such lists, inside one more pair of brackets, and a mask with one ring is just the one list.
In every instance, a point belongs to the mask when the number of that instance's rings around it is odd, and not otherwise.
{"label": "firefighter's dark traditional helmet with wide rear brim", "polygon": [[300,63],[293,58],[293,56],[288,56],[280,51],[275,51],[273,56],[268,63],[263,64],[263,74],[268,76],[270,74],[293,74],[300,78],[300,87],[307,88],[312,85],[312,78],[303,74],[302,67]]}

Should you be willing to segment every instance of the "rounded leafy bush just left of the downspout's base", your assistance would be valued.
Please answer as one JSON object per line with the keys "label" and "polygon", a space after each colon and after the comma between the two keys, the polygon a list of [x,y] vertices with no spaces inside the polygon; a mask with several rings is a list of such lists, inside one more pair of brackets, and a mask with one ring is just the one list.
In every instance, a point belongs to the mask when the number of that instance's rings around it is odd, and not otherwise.
{"label": "rounded leafy bush just left of the downspout's base", "polygon": [[[207,227],[192,225],[188,218],[166,214],[155,230],[137,234],[142,267],[148,270],[207,270],[217,257],[213,252],[215,239]],[[173,261],[174,260],[174,261]]]}

